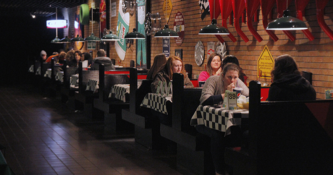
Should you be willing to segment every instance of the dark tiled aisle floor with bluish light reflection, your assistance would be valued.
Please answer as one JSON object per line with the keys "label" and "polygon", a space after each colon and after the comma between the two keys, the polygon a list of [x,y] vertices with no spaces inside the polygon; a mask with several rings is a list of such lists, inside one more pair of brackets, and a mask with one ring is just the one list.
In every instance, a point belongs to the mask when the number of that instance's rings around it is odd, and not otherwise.
{"label": "dark tiled aisle floor with bluish light reflection", "polygon": [[148,150],[36,91],[0,87],[0,143],[17,174],[181,174],[171,151]]}

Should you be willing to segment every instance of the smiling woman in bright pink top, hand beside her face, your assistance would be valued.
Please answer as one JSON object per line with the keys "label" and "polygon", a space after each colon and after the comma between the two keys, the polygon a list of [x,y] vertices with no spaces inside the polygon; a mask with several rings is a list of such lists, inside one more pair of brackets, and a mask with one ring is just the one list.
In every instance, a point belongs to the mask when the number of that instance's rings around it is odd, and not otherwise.
{"label": "smiling woman in bright pink top, hand beside her face", "polygon": [[198,81],[205,81],[211,75],[219,75],[222,71],[221,62],[222,62],[221,55],[217,53],[211,54],[207,61],[206,70],[200,72]]}

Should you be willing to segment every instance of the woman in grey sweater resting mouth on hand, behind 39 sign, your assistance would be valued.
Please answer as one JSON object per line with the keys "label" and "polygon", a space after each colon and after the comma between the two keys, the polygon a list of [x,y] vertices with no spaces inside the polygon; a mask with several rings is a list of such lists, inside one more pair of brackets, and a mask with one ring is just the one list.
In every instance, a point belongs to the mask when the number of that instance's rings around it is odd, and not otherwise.
{"label": "woman in grey sweater resting mouth on hand, behind 39 sign", "polygon": [[200,97],[201,105],[222,104],[225,90],[233,91],[235,87],[241,87],[241,94],[248,96],[248,87],[238,78],[239,66],[227,63],[220,75],[210,76],[204,84]]}

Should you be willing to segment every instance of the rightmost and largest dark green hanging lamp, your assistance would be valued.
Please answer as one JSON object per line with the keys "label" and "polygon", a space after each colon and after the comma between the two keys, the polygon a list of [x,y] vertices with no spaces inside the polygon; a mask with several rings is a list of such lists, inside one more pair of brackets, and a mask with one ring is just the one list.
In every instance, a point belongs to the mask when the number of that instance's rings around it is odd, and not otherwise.
{"label": "rightmost and largest dark green hanging lamp", "polygon": [[304,21],[292,17],[290,15],[290,10],[288,9],[288,0],[287,7],[283,11],[283,16],[277,18],[267,25],[267,30],[304,30],[307,29],[307,26]]}

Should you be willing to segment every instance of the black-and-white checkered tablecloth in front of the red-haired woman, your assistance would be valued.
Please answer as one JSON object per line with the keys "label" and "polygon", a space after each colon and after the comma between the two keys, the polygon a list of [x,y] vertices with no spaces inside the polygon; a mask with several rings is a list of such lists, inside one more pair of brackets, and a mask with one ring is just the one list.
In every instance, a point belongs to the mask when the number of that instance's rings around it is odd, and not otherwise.
{"label": "black-and-white checkered tablecloth in front of the red-haired woman", "polygon": [[172,95],[160,95],[156,93],[147,93],[140,106],[152,108],[158,112],[168,114],[166,102],[171,101]]}

